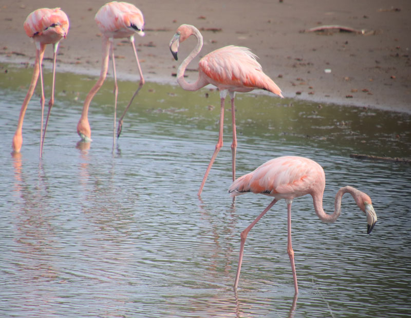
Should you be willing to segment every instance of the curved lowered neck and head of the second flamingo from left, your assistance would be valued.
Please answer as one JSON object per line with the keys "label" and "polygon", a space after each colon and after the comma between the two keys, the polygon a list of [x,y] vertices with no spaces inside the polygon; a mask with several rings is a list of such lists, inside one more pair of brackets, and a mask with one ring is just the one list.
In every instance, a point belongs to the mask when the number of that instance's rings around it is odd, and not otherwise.
{"label": "curved lowered neck and head of the second flamingo from left", "polygon": [[106,79],[106,76],[107,76],[108,58],[110,55],[109,54],[110,41],[108,38],[104,37],[102,49],[103,49],[103,52],[102,52],[103,56],[101,60],[100,77],[98,81],[96,82],[96,84],[90,89],[90,91],[88,92],[86,96],[86,99],[84,100],[83,111],[81,113],[79,123],[77,124],[77,133],[85,141],[91,141],[91,130],[90,130],[90,124],[88,122],[88,108],[90,107],[91,100],[94,98],[96,93],[99,91],[99,89],[103,85],[104,80]]}

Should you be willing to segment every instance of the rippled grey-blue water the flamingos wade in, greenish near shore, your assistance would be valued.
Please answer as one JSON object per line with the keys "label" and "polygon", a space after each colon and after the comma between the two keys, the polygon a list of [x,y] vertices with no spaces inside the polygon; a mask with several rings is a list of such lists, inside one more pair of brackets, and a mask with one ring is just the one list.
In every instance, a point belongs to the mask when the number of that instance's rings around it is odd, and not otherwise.
{"label": "rippled grey-blue water the flamingos wade in, greenish near shore", "polygon": [[[286,204],[278,202],[248,236],[234,294],[240,232],[271,200],[247,194],[233,204],[227,193],[230,111],[225,145],[197,197],[218,134],[217,92],[147,83],[112,153],[113,83],[90,108],[94,141],[78,143],[94,79],[58,74],[43,159],[38,96],[27,110],[22,152],[12,157],[31,74],[2,67],[0,316],[409,316],[411,167],[349,154],[411,157],[411,116],[238,95],[238,176],[273,157],[306,156],[325,169],[326,210],[349,184],[371,196],[379,221],[367,235],[366,217],[348,195],[331,224],[315,216],[309,196],[295,199],[296,299]],[[121,107],[135,87],[120,83]]]}

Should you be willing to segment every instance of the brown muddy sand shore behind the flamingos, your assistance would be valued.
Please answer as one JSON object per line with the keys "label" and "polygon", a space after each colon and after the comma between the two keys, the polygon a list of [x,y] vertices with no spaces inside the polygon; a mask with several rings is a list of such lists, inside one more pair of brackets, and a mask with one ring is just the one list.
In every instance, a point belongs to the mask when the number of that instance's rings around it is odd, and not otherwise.
{"label": "brown muddy sand shore behind the flamingos", "polygon": [[[61,7],[70,31],[59,48],[58,72],[99,74],[101,34],[94,21],[106,1],[4,0],[0,5],[0,61],[32,63],[34,45],[23,22],[37,8]],[[203,28],[206,54],[234,44],[249,47],[284,96],[369,106],[411,113],[411,2],[408,0],[267,0],[130,2],[144,14],[145,36],[136,36],[147,82],[176,84],[178,63],[168,44],[183,23]],[[322,25],[341,25],[354,32],[301,32]],[[214,29],[214,31],[213,31]],[[180,46],[184,58],[195,44]],[[46,50],[45,57],[52,57]],[[117,70],[138,81],[129,44],[116,41]],[[196,68],[195,60],[189,67]],[[45,66],[49,62],[45,62]],[[327,71],[325,71],[327,69]],[[196,74],[189,73],[188,81]],[[147,84],[148,86],[149,84]],[[144,88],[143,88],[144,89]]]}

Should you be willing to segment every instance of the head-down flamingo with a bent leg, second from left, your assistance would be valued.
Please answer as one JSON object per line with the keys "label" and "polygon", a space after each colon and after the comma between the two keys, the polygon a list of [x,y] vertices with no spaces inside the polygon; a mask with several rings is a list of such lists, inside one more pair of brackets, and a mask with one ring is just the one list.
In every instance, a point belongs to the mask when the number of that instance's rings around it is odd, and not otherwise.
{"label": "head-down flamingo with a bent leg, second from left", "polygon": [[97,83],[91,88],[88,92],[88,95],[84,101],[83,111],[77,124],[77,133],[81,137],[83,141],[91,141],[91,129],[90,124],[88,122],[88,108],[90,106],[90,102],[96,93],[99,91],[100,87],[103,85],[103,82],[107,76],[108,71],[108,57],[111,51],[111,60],[113,62],[113,74],[114,74],[114,128],[113,128],[113,149],[116,144],[116,111],[117,111],[117,95],[118,95],[118,86],[117,86],[117,76],[116,76],[116,64],[114,59],[114,47],[113,41],[114,39],[123,39],[128,38],[130,43],[132,44],[134,55],[137,62],[138,71],[140,73],[140,84],[134,93],[132,99],[126,106],[123,115],[119,120],[119,126],[117,129],[117,138],[120,137],[121,129],[123,125],[123,118],[125,113],[127,112],[128,108],[132,104],[134,98],[136,97],[137,93],[144,85],[144,78],[143,73],[141,71],[140,62],[137,57],[137,50],[134,44],[134,34],[139,34],[140,36],[144,36],[144,17],[143,13],[140,9],[136,8],[134,5],[126,3],[126,2],[117,2],[112,1],[106,3],[104,6],[100,8],[100,10],[96,13],[95,21],[97,26],[99,27],[100,31],[103,33],[103,58],[101,62],[101,71],[100,71],[100,78],[98,79]]}

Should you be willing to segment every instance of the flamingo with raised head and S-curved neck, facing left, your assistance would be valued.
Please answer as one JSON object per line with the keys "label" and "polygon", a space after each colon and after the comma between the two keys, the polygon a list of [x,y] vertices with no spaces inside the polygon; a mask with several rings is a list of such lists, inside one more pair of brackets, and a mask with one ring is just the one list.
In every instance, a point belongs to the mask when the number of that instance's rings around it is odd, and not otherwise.
{"label": "flamingo with raised head and S-curved neck, facing left", "polygon": [[213,156],[202,179],[197,195],[200,196],[204,183],[211,170],[211,166],[222,147],[222,127],[224,117],[224,102],[229,93],[231,99],[231,116],[233,122],[232,170],[233,181],[235,180],[235,154],[237,148],[237,137],[235,130],[235,92],[249,92],[260,88],[273,92],[283,98],[281,89],[263,72],[261,65],[256,60],[256,55],[249,48],[239,46],[225,46],[204,56],[198,63],[198,78],[194,83],[188,83],[184,79],[185,68],[196,57],[202,48],[202,35],[192,25],[183,24],[178,27],[176,34],[170,41],[170,50],[177,61],[178,46],[181,42],[194,35],[197,45],[188,57],[181,63],[177,70],[177,82],[185,90],[198,90],[208,84],[212,84],[220,91],[220,128],[218,142],[215,146]]}

